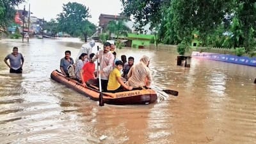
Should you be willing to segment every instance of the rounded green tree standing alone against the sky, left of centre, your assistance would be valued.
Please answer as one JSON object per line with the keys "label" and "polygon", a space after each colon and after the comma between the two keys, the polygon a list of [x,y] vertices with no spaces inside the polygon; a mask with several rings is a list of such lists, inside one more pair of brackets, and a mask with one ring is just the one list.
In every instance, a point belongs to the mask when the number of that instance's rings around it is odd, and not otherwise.
{"label": "rounded green tree standing alone against the sky, left of centre", "polygon": [[96,26],[89,22],[89,8],[79,3],[63,4],[63,12],[58,15],[58,26],[63,32],[67,32],[72,36],[84,36],[84,41],[87,41],[87,36],[92,35],[96,31]]}

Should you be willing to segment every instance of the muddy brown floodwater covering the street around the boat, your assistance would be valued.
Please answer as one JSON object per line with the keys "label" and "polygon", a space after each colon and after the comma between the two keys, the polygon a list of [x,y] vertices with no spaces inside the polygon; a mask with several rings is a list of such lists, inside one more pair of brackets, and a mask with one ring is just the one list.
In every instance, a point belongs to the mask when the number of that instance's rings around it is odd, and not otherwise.
{"label": "muddy brown floodwater covering the street around the boat", "polygon": [[[65,50],[76,58],[82,42],[20,41],[0,41],[0,143],[256,143],[255,67],[192,59],[184,68],[173,50],[118,49],[119,59],[150,56],[154,85],[179,96],[100,107],[50,78]],[[24,55],[22,75],[3,62],[14,46]]]}

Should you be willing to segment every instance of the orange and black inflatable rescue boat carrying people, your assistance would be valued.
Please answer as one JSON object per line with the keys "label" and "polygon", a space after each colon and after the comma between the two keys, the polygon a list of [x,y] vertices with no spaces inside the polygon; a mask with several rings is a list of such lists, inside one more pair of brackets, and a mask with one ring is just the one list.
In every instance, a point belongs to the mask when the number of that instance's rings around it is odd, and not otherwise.
{"label": "orange and black inflatable rescue boat carrying people", "polygon": [[[90,97],[95,101],[99,101],[100,92],[92,87],[83,87],[81,83],[71,78],[65,77],[58,70],[51,73],[51,78],[56,82],[67,85],[77,92]],[[157,93],[152,89],[129,90],[124,92],[102,92],[103,102],[107,104],[149,104],[157,100]]]}

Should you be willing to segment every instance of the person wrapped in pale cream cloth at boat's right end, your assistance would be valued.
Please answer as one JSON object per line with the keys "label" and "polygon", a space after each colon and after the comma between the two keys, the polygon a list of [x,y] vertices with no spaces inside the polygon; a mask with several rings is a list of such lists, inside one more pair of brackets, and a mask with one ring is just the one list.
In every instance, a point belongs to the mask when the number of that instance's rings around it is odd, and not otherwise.
{"label": "person wrapped in pale cream cloth at boat's right end", "polygon": [[138,88],[138,87],[149,87],[152,81],[151,71],[148,68],[149,57],[143,55],[140,62],[131,67],[127,74],[127,85]]}

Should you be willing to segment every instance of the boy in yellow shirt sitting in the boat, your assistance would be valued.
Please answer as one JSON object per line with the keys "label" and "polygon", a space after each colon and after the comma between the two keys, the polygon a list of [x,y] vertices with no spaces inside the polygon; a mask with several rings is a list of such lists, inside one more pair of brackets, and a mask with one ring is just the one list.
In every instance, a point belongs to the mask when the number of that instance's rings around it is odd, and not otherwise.
{"label": "boy in yellow shirt sitting in the boat", "polygon": [[123,68],[122,61],[115,62],[115,68],[111,71],[108,80],[108,92],[121,92],[124,90],[132,90],[133,87],[129,87],[125,85],[123,80],[121,79],[121,69]]}

